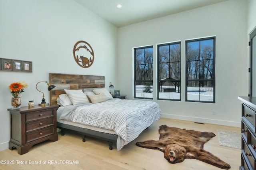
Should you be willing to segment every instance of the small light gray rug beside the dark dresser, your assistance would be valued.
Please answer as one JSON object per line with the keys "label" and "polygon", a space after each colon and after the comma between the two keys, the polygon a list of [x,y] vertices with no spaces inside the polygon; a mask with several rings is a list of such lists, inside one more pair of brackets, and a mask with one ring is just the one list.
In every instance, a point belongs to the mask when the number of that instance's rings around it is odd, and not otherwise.
{"label": "small light gray rug beside the dark dresser", "polygon": [[227,146],[230,148],[241,149],[241,132],[226,130],[226,129],[218,129],[218,136],[221,146]]}

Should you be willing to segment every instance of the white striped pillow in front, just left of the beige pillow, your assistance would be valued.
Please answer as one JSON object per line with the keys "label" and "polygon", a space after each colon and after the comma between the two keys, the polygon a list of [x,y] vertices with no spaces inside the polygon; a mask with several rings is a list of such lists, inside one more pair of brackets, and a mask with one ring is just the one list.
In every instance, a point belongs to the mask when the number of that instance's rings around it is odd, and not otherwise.
{"label": "white striped pillow in front, just left of the beige pillow", "polygon": [[90,103],[86,95],[83,93],[82,90],[68,90],[64,89],[67,93],[70,101],[73,105],[80,105],[84,103]]}

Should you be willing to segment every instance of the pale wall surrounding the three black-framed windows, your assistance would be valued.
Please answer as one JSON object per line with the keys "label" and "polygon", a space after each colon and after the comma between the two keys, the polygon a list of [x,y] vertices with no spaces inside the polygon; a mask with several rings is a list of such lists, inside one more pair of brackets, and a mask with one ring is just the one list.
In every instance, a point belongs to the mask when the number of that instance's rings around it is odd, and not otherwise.
{"label": "pale wall surrounding the three black-framed windows", "polygon": [[[254,8],[255,9],[255,8]],[[132,48],[154,45],[154,101],[162,117],[240,127],[248,95],[246,1],[229,0],[118,29],[119,87],[133,99]],[[185,102],[185,40],[216,36],[216,103]],[[181,101],[157,100],[156,44],[181,41]],[[216,111],[216,115],[212,115]]]}

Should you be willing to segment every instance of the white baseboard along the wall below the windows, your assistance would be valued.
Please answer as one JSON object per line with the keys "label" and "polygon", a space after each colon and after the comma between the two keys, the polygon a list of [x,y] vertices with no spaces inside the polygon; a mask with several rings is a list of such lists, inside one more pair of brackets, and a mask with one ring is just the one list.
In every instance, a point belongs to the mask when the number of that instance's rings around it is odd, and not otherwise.
{"label": "white baseboard along the wall below the windows", "polygon": [[188,116],[168,115],[168,114],[162,114],[162,117],[168,118],[168,119],[178,119],[182,121],[209,123],[209,124],[224,125],[224,126],[230,126],[230,127],[241,127],[241,122],[222,121],[222,120],[216,120],[216,119],[205,119],[205,118],[199,118],[199,117],[188,117]]}

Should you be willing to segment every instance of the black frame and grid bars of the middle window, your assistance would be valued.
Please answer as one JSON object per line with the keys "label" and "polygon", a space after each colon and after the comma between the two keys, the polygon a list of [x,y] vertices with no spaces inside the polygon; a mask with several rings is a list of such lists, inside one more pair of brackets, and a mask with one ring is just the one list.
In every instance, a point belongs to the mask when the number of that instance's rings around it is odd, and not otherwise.
{"label": "black frame and grid bars of the middle window", "polygon": [[[179,61],[170,61],[170,46],[171,45],[180,45],[180,57],[179,57]],[[168,58],[169,58],[169,61],[167,62],[160,62],[160,47],[163,47],[163,46],[169,46],[169,51],[168,51]],[[158,70],[157,70],[157,73],[158,73],[158,76],[157,76],[157,79],[158,79],[158,91],[157,91],[157,99],[158,100],[167,100],[167,101],[181,101],[181,88],[180,88],[180,84],[181,84],[181,42],[172,42],[172,43],[164,43],[164,44],[159,44],[157,45],[157,63],[158,63]],[[170,67],[170,63],[178,63],[179,62],[179,79],[176,79],[174,77],[171,77],[170,76],[170,71],[169,71],[169,75],[165,78],[165,79],[160,79],[160,64],[163,64],[163,63],[166,63],[169,65]],[[168,99],[164,99],[164,98],[160,98],[160,93],[162,92],[162,84],[164,83],[168,83],[168,86],[171,86],[171,85],[174,85],[175,86],[175,91],[177,91],[176,88],[178,88],[178,92],[176,93],[179,93],[179,96],[180,96],[180,99],[170,99],[170,93],[172,93],[172,91],[170,91],[170,89],[168,89]]]}

